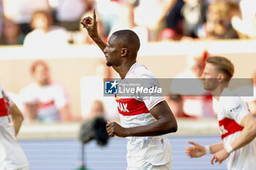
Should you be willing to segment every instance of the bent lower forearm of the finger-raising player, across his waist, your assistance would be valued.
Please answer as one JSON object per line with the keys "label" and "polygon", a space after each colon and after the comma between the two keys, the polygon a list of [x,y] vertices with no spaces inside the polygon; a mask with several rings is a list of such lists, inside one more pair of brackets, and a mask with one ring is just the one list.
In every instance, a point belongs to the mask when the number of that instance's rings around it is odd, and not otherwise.
{"label": "bent lower forearm of the finger-raising player, across his waist", "polygon": [[155,123],[142,125],[134,128],[127,128],[127,136],[158,136],[177,131],[176,120],[168,120],[160,118]]}

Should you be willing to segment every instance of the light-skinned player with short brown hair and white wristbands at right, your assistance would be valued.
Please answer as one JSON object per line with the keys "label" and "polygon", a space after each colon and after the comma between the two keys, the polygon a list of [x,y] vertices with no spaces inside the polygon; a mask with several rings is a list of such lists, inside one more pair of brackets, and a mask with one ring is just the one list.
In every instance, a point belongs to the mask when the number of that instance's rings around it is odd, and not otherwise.
{"label": "light-skinned player with short brown hair and white wristbands at right", "polygon": [[249,113],[246,103],[229,88],[234,66],[227,58],[206,59],[202,80],[206,90],[211,90],[214,107],[218,113],[222,142],[201,146],[195,142],[186,147],[191,158],[214,153],[211,163],[222,163],[227,159],[229,170],[249,170],[256,168],[256,121]]}

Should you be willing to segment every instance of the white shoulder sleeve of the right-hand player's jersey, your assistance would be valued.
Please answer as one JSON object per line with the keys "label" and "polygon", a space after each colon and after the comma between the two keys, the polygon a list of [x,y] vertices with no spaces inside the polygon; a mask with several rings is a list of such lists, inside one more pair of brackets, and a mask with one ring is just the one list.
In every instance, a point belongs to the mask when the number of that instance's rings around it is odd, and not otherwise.
{"label": "white shoulder sleeve of the right-hand player's jersey", "polygon": [[235,120],[238,124],[240,124],[241,120],[249,114],[246,102],[238,96],[226,97],[223,104],[222,107],[224,108],[225,113],[227,113],[227,117]]}

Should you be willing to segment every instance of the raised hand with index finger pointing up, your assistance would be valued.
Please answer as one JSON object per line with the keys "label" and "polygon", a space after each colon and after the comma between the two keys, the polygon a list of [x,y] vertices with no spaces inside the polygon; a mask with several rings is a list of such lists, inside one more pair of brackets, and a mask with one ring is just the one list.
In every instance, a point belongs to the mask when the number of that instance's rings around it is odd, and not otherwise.
{"label": "raised hand with index finger pointing up", "polygon": [[91,37],[98,36],[95,9],[94,9],[93,18],[91,17],[83,18],[83,20],[80,21],[80,24],[83,25],[83,28],[86,28],[89,36]]}

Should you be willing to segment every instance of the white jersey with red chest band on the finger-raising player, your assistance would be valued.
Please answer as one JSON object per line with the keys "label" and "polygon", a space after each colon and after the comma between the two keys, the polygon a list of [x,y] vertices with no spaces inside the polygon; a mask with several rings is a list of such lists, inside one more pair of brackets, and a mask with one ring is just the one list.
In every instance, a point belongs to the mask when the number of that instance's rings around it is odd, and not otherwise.
{"label": "white jersey with red chest band on the finger-raising player", "polygon": [[[129,83],[129,79],[138,80],[147,88],[158,86],[154,74],[145,66],[135,63],[129,69],[125,79],[120,80],[119,85]],[[140,125],[148,125],[157,121],[149,112],[165,99],[159,93],[151,96],[142,93],[132,93],[130,96],[116,96],[121,125],[124,128],[132,128]],[[170,142],[165,135],[161,136],[129,136],[127,137],[127,164],[130,168],[138,168],[148,162],[154,166],[164,165],[172,160]]]}

